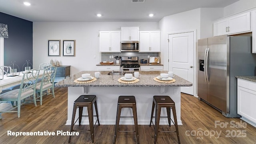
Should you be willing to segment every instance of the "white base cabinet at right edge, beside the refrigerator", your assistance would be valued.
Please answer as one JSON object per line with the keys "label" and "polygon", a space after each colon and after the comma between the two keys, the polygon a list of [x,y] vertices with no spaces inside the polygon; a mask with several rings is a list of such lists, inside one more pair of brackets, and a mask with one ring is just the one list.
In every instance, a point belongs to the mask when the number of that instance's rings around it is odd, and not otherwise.
{"label": "white base cabinet at right edge, beside the refrigerator", "polygon": [[237,80],[237,113],[241,119],[256,127],[256,83],[248,80]]}

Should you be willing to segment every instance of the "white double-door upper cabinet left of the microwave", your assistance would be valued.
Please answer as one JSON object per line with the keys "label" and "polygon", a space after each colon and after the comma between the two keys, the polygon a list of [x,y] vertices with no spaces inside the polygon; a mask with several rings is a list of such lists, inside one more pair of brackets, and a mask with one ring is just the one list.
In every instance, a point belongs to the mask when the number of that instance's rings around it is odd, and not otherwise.
{"label": "white double-door upper cabinet left of the microwave", "polygon": [[120,53],[121,31],[100,31],[100,52]]}

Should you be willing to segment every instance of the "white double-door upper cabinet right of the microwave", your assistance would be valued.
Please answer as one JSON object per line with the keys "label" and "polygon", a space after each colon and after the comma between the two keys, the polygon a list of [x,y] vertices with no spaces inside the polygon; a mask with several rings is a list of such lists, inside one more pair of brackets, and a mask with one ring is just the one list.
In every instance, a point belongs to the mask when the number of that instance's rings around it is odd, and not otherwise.
{"label": "white double-door upper cabinet right of the microwave", "polygon": [[160,52],[160,30],[140,31],[140,52]]}

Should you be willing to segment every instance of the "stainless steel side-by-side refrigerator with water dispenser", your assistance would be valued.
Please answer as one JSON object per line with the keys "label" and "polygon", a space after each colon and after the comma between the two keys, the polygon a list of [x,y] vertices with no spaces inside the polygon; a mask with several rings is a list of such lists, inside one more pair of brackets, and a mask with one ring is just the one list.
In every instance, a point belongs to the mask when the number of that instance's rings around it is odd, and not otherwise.
{"label": "stainless steel side-by-side refrigerator with water dispenser", "polygon": [[237,114],[235,76],[254,76],[252,37],[227,36],[198,40],[198,97],[225,117]]}

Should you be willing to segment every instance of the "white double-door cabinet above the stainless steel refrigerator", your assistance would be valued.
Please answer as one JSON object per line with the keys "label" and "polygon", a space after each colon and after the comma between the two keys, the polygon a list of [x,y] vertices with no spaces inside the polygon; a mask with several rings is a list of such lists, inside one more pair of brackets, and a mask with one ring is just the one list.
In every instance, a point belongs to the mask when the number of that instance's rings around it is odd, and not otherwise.
{"label": "white double-door cabinet above the stainless steel refrigerator", "polygon": [[232,16],[213,23],[213,36],[251,31],[250,12]]}

